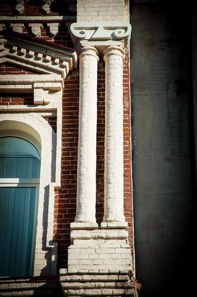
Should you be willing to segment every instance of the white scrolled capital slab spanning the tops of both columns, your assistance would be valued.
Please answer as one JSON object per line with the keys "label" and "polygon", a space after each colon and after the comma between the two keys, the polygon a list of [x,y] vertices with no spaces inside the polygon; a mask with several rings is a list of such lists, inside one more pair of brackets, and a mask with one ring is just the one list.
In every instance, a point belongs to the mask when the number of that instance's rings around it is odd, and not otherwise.
{"label": "white scrolled capital slab spanning the tops of both columns", "polygon": [[117,22],[84,22],[71,24],[71,37],[75,45],[78,40],[107,41],[130,39],[131,25]]}

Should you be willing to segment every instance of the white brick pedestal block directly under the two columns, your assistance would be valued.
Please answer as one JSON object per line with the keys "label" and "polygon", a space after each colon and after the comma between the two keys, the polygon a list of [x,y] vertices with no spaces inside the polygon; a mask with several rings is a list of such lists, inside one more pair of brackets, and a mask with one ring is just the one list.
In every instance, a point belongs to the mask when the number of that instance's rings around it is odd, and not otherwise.
{"label": "white brick pedestal block directly under the two columns", "polygon": [[73,230],[68,248],[68,273],[132,271],[128,232],[124,229]]}

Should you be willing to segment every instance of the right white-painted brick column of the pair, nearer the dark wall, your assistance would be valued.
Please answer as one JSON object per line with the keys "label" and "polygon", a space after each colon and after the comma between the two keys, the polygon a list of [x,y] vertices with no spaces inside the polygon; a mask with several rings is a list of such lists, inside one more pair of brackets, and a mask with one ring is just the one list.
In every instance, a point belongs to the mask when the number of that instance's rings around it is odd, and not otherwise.
{"label": "right white-painted brick column of the pair, nearer the dark wall", "polygon": [[[125,222],[123,213],[123,59],[124,51],[120,47],[110,46],[104,50],[106,75],[104,222]],[[105,224],[102,223],[102,225]]]}

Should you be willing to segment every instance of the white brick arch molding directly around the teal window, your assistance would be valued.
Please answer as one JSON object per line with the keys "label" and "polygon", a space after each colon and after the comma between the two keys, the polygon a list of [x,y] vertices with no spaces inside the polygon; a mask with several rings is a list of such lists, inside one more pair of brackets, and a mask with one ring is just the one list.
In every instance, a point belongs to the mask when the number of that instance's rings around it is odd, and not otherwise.
{"label": "white brick arch molding directly around the teal window", "polygon": [[[12,127],[12,128],[11,128]],[[0,136],[27,135],[41,156],[34,275],[56,274],[57,244],[52,243],[56,135],[39,113],[0,114]],[[23,136],[23,135],[22,135]],[[29,137],[28,137],[29,136]],[[48,203],[47,203],[48,202]],[[46,256],[50,248],[50,255]],[[49,261],[50,258],[50,261]]]}

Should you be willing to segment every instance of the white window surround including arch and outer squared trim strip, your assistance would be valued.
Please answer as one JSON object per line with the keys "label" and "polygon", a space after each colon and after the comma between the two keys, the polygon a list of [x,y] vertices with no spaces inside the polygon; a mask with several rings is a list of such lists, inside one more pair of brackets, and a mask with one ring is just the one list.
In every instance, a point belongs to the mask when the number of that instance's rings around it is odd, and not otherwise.
{"label": "white window surround including arch and outer squared trim strip", "polygon": [[[53,110],[57,112],[57,134],[43,118],[44,109],[23,105],[8,106],[0,114],[0,136],[17,136],[31,142],[41,157],[34,276],[57,273],[57,243],[53,242],[55,190],[60,189],[62,113],[61,95]],[[48,105],[47,105],[48,108]],[[36,110],[35,110],[36,109]],[[39,109],[39,107],[38,107]]]}

